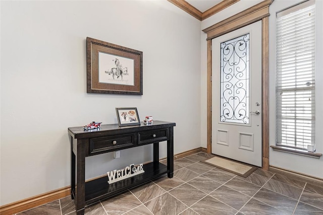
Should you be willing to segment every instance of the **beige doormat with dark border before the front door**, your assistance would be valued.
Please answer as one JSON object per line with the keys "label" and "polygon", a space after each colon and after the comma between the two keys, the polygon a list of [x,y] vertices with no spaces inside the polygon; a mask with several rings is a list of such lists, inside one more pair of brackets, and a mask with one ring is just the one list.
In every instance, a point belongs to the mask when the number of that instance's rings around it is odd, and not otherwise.
{"label": "beige doormat with dark border before the front door", "polygon": [[258,168],[220,157],[213,157],[201,162],[237,174],[244,178],[248,177],[251,173],[253,173],[253,171]]}

